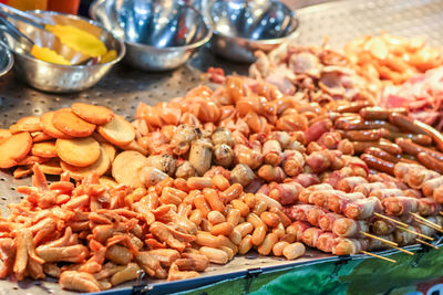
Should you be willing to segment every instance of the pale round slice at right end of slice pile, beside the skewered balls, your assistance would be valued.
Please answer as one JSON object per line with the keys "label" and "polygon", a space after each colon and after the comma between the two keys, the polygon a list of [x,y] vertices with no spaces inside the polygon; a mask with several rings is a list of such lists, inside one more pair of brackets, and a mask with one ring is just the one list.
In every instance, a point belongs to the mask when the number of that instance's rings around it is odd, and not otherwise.
{"label": "pale round slice at right end of slice pile, beside the skewered balls", "polygon": [[115,157],[112,164],[112,176],[120,185],[132,188],[144,187],[138,175],[142,168],[147,166],[147,158],[138,151],[123,151]]}

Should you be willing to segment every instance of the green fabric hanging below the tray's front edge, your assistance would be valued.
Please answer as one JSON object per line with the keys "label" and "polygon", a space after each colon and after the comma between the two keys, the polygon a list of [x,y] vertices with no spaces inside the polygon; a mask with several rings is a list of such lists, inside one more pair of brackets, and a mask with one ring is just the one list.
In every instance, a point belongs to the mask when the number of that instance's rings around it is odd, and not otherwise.
{"label": "green fabric hanging below the tray's front edge", "polygon": [[217,282],[182,294],[404,294],[443,275],[442,251],[389,257],[396,263],[373,257],[340,265],[327,262]]}

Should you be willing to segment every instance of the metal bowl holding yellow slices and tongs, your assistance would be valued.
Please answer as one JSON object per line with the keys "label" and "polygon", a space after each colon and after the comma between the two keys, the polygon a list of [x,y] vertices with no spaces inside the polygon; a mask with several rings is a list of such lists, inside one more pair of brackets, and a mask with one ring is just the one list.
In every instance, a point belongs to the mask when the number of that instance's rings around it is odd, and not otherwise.
{"label": "metal bowl holding yellow slices and tongs", "polygon": [[[34,88],[52,93],[80,92],[95,85],[111,67],[121,61],[125,54],[124,43],[95,22],[76,15],[52,11],[31,11],[30,13],[59,24],[69,24],[87,30],[100,38],[109,50],[115,50],[117,57],[111,62],[94,65],[61,65],[40,61],[23,52],[22,43],[11,38],[6,31],[0,31],[0,40],[13,53],[16,73]],[[25,35],[31,36],[35,44],[49,46],[54,36],[25,23],[17,23]]]}

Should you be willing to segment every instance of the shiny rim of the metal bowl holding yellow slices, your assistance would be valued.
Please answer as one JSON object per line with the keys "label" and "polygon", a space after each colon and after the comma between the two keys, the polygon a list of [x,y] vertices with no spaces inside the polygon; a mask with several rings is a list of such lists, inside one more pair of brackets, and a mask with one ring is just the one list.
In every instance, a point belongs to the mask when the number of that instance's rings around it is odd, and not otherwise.
{"label": "shiny rim of the metal bowl holding yellow slices", "polygon": [[120,62],[123,56],[126,53],[126,46],[124,44],[124,42],[122,42],[122,40],[120,40],[119,38],[116,38],[112,32],[110,32],[109,30],[106,30],[105,28],[103,28],[101,24],[99,24],[97,22],[94,22],[93,20],[89,20],[86,18],[82,18],[79,15],[74,15],[74,14],[69,14],[69,13],[62,13],[62,12],[55,12],[55,11],[45,11],[45,10],[28,10],[27,12],[31,12],[31,13],[42,13],[42,14],[49,14],[49,15],[65,15],[65,17],[70,17],[72,19],[75,20],[82,20],[82,21],[86,21],[92,25],[99,27],[100,29],[102,29],[103,31],[105,31],[106,33],[111,34],[112,38],[114,38],[117,42],[119,42],[119,46],[120,46],[120,54],[117,55],[117,57],[115,60],[112,60],[107,63],[100,63],[100,64],[93,64],[93,65],[64,65],[64,64],[56,64],[56,63],[50,63],[50,62],[45,62],[39,59],[35,59],[33,56],[30,56],[28,54],[23,54],[20,52],[17,52],[16,50],[11,49],[10,46],[8,46],[10,51],[12,51],[14,54],[19,55],[20,57],[23,57],[28,61],[31,62],[37,62],[37,63],[41,63],[41,64],[45,64],[49,66],[53,66],[53,67],[58,67],[58,69],[62,69],[62,70],[84,70],[84,69],[95,69],[95,67],[101,67],[104,65],[114,65],[117,62]]}

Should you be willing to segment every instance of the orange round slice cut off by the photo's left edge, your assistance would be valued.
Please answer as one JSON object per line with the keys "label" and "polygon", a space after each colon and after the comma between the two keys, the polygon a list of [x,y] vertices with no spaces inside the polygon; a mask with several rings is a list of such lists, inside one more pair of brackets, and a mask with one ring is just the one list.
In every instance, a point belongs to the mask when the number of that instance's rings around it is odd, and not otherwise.
{"label": "orange round slice cut off by the photo's left edge", "polygon": [[32,138],[29,133],[12,135],[0,144],[0,168],[11,168],[23,159],[32,147]]}

